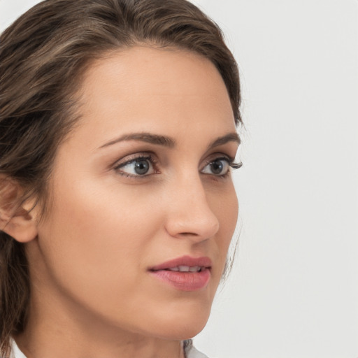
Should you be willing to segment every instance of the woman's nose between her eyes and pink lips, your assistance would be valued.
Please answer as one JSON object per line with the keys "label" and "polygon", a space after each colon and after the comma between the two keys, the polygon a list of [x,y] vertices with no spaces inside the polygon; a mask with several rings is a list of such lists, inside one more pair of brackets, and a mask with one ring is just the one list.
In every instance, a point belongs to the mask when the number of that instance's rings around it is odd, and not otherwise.
{"label": "woman's nose between her eyes and pink lips", "polygon": [[167,196],[166,231],[175,238],[200,242],[213,237],[220,223],[199,178],[182,178]]}

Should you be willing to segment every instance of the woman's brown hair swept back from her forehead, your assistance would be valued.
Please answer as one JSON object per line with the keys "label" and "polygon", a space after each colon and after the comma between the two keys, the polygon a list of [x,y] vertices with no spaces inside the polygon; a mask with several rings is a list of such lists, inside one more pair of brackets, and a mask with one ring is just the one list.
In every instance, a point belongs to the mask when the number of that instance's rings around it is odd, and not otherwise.
{"label": "woman's brown hair swept back from her forehead", "polygon": [[[76,116],[80,76],[93,59],[139,43],[183,48],[215,64],[241,123],[234,57],[219,27],[185,0],[46,0],[0,36],[0,199],[6,182],[21,201],[42,201],[57,145]],[[24,246],[0,231],[0,355],[27,321],[29,270]]]}

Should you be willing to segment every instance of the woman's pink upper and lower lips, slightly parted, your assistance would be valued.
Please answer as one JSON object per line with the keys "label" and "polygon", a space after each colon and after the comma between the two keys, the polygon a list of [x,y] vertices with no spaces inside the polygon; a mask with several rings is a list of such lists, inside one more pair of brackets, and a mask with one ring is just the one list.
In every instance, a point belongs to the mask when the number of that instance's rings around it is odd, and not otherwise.
{"label": "woman's pink upper and lower lips, slightly parted", "polygon": [[[211,277],[211,260],[208,257],[189,257],[183,256],[173,259],[163,264],[159,264],[149,269],[151,275],[162,282],[180,289],[182,291],[196,291],[208,285]],[[200,272],[180,272],[169,271],[168,268],[177,266],[202,266]]]}

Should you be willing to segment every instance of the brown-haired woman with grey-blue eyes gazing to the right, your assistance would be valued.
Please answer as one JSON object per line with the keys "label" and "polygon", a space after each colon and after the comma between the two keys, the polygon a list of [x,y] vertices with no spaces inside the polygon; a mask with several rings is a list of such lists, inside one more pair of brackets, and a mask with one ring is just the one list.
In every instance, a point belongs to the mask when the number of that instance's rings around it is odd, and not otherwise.
{"label": "brown-haired woman with grey-blue eyes gazing to the right", "polygon": [[47,0],[0,76],[2,357],[204,357],[241,165],[220,29],[185,0]]}

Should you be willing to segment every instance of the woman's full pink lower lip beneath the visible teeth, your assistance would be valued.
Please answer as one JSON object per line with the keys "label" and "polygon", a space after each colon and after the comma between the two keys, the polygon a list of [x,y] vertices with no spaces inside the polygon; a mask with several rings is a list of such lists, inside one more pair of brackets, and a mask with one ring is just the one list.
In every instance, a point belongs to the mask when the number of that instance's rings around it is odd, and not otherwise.
{"label": "woman's full pink lower lip beneath the visible teeth", "polygon": [[169,270],[150,271],[159,280],[181,289],[182,291],[197,291],[208,285],[210,280],[210,269],[206,268],[201,272],[180,272]]}

